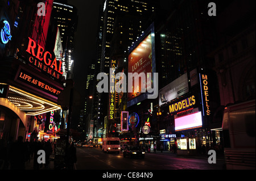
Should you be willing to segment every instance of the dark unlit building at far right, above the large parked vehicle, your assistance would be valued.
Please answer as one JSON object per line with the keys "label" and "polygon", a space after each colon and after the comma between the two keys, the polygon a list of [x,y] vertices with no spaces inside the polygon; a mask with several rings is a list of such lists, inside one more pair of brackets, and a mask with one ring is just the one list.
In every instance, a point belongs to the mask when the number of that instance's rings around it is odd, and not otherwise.
{"label": "dark unlit building at far right, above the large parked vehicle", "polygon": [[255,99],[254,7],[254,1],[243,1],[240,10],[240,1],[233,1],[217,16],[219,39],[210,55],[218,77],[220,112],[228,104]]}

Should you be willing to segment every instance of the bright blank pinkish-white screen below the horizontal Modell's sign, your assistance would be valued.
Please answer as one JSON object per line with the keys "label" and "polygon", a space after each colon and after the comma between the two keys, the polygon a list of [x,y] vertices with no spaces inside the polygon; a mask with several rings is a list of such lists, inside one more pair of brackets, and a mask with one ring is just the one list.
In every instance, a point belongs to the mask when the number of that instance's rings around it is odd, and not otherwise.
{"label": "bright blank pinkish-white screen below the horizontal Modell's sign", "polygon": [[201,112],[191,113],[186,116],[174,118],[175,131],[202,127]]}

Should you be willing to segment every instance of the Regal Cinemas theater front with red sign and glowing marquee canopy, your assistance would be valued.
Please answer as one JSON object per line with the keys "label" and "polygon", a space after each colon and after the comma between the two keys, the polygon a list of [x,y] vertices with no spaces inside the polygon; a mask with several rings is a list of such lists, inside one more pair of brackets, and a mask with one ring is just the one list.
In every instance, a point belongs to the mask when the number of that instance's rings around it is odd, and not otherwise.
{"label": "Regal Cinemas theater front with red sign and glowing marquee canopy", "polygon": [[58,138],[59,123],[53,115],[61,111],[57,99],[64,89],[61,61],[30,37],[26,43],[31,54],[20,50],[16,57],[4,57],[0,62],[0,137],[52,140]]}

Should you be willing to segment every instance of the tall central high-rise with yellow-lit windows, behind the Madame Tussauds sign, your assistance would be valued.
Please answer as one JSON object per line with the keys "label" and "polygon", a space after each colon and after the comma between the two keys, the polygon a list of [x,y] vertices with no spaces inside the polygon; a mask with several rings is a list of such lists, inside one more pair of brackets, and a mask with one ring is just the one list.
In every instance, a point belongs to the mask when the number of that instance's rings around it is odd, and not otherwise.
{"label": "tall central high-rise with yellow-lit windows, behind the Madame Tussauds sign", "polygon": [[[124,65],[128,49],[135,40],[146,29],[148,17],[156,10],[156,1],[134,1],[134,0],[106,0],[100,11],[102,29],[99,31],[101,41],[101,66],[100,72],[110,74],[112,61],[116,68]],[[98,123],[103,124],[105,117],[109,117],[109,93],[102,92],[98,95]],[[118,110],[118,109],[117,109]],[[114,117],[119,117],[115,111]],[[104,136],[111,136],[110,129],[113,128],[112,121],[107,121]],[[108,120],[108,119],[107,119]],[[119,122],[118,122],[119,124]],[[114,129],[114,128],[113,128]],[[113,130],[114,131],[114,130]]]}

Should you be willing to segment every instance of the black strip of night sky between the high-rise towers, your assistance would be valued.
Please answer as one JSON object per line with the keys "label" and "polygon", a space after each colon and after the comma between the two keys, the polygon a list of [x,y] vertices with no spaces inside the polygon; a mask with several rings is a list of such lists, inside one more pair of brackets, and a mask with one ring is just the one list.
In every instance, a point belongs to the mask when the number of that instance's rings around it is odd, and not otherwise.
{"label": "black strip of night sky between the high-rise towers", "polygon": [[[96,58],[96,34],[98,30],[98,14],[102,0],[69,0],[68,3],[77,8],[78,24],[75,33],[75,57],[73,79],[75,89],[81,94],[84,101],[86,74],[88,66]],[[81,103],[82,105],[84,102]],[[72,127],[79,119],[79,110],[74,107],[72,113]]]}

